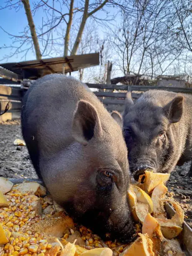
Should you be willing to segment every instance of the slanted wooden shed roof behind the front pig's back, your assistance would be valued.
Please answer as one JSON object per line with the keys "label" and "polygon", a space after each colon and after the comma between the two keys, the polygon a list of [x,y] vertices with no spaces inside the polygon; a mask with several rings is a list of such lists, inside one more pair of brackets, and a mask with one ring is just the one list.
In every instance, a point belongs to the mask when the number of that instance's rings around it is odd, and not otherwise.
{"label": "slanted wooden shed roof behind the front pig's back", "polygon": [[20,79],[37,79],[46,74],[63,73],[63,66],[67,73],[96,65],[99,65],[99,53],[0,64],[4,69],[18,74]]}

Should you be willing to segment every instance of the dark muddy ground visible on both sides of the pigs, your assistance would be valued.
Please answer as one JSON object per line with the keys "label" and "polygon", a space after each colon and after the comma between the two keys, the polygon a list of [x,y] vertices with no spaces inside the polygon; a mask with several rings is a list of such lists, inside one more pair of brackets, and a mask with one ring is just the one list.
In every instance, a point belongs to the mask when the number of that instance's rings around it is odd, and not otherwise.
{"label": "dark muddy ground visible on both sides of the pigs", "polygon": [[[14,146],[16,138],[22,139],[20,121],[0,125],[0,176],[6,178],[37,178],[26,146]],[[192,179],[185,177],[190,162],[177,166],[166,186],[169,196],[179,202],[185,212],[185,221],[192,227]]]}

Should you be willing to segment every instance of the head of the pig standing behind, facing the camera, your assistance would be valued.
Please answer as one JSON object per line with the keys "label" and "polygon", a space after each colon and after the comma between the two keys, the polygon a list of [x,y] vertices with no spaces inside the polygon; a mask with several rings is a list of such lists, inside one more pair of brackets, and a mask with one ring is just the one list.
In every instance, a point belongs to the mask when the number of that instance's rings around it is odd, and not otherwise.
{"label": "head of the pig standing behind, facing the camera", "polygon": [[136,180],[145,169],[171,172],[178,161],[175,157],[179,157],[177,123],[182,118],[183,97],[166,100],[164,104],[156,96],[147,92],[136,104],[131,93],[126,96],[123,133],[130,171]]}

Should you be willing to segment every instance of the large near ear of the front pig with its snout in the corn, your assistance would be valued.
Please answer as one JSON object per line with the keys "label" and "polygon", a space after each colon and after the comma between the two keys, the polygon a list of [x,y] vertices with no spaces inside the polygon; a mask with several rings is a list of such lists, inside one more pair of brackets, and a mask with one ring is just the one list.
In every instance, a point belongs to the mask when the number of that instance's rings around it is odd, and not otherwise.
{"label": "large near ear of the front pig with its snout in the corn", "polygon": [[72,121],[72,136],[83,145],[87,145],[93,136],[102,136],[97,110],[87,101],[78,102]]}

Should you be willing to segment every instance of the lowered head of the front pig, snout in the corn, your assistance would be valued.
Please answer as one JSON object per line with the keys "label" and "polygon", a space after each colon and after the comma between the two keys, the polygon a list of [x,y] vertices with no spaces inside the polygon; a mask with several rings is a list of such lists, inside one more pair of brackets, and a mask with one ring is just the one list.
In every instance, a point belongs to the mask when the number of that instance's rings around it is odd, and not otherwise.
{"label": "lowered head of the front pig, snout in the corn", "polygon": [[89,102],[79,101],[72,136],[83,145],[87,166],[70,209],[101,236],[110,233],[110,238],[130,241],[134,222],[127,196],[129,166],[121,125],[117,112],[112,118],[102,105],[96,110]]}

